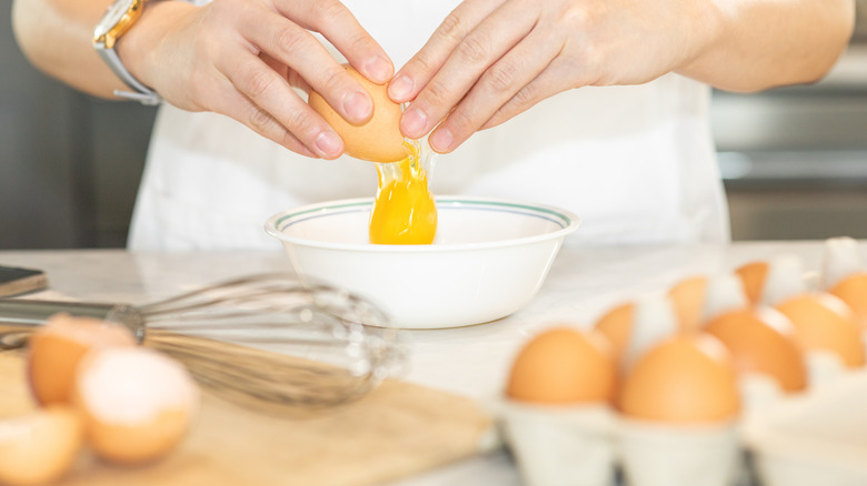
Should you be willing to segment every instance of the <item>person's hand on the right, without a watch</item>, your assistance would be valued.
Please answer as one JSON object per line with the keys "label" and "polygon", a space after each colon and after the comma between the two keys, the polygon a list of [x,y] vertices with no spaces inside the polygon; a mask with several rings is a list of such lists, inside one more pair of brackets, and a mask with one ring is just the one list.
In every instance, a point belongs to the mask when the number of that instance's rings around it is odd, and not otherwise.
{"label": "person's hand on the right, without a watch", "polygon": [[[395,75],[400,129],[449,152],[539,101],[636,84],[687,62],[714,34],[691,0],[466,0]],[[445,120],[442,120],[445,118]]]}

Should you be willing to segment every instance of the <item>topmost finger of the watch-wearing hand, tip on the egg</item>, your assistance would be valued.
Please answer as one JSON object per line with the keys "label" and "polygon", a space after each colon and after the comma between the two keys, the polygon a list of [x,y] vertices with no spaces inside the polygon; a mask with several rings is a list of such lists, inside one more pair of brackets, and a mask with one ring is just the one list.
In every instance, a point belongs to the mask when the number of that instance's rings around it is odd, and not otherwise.
{"label": "topmost finger of the watch-wearing hand, tip on the egg", "polygon": [[358,72],[382,84],[391,79],[395,65],[379,43],[338,0],[279,1],[278,10],[305,29],[321,33]]}

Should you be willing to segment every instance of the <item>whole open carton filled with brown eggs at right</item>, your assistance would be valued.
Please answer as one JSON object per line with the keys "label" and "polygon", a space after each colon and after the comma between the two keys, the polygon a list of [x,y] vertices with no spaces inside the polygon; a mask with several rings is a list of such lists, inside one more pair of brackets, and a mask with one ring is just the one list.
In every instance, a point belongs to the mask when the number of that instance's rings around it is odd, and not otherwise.
{"label": "whole open carton filled with brown eggs at right", "polygon": [[[850,242],[844,246],[851,253]],[[850,254],[846,259],[853,260]],[[845,266],[833,256],[826,256],[826,266],[828,261],[834,269]],[[843,280],[851,280],[853,273]],[[853,446],[857,434],[847,427],[833,426],[834,419],[818,427],[825,435],[848,434],[849,442],[840,445],[843,454],[818,465],[827,467],[810,470],[800,470],[798,464],[813,465],[805,460],[821,453],[829,456],[829,449],[814,450],[823,443],[799,442],[780,432],[804,424],[810,414],[821,415],[821,404],[835,396],[830,403],[849,404],[836,415],[858,422],[861,427],[856,429],[867,436],[867,422],[858,418],[867,405],[867,333],[855,324],[849,304],[841,306],[841,300],[828,297],[821,287],[810,287],[804,274],[790,256],[753,262],[731,274],[690,277],[665,294],[624,303],[592,330],[559,326],[528,342],[515,360],[501,409],[505,438],[527,484],[610,485],[620,467],[631,486],[729,486],[743,480],[744,449],[755,453],[757,474],[767,486],[867,484],[867,465],[840,459],[867,456],[867,442],[860,438]],[[827,274],[823,272],[823,282],[829,281]],[[867,301],[867,291],[860,295]],[[517,393],[516,379],[548,379],[548,387],[567,388],[580,383],[575,376],[572,383],[565,379],[562,371],[559,377],[548,373],[568,367],[558,357],[568,352],[554,353],[545,344],[567,332],[592,342],[600,334],[606,337],[607,346],[597,347],[607,348],[609,364],[596,360],[592,366],[602,376],[607,372],[598,369],[617,369],[614,394],[605,398],[584,391],[580,399],[570,402],[565,396],[552,401],[550,392],[534,395],[526,385]],[[532,369],[527,355],[548,360]],[[568,360],[572,368],[577,363],[589,366],[574,356]],[[588,369],[580,376],[594,374]],[[592,389],[597,382],[584,386]],[[835,460],[839,467],[831,467]],[[849,483],[805,482],[817,478],[817,470]]]}

